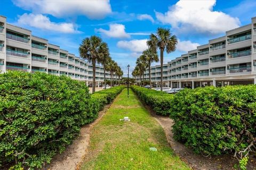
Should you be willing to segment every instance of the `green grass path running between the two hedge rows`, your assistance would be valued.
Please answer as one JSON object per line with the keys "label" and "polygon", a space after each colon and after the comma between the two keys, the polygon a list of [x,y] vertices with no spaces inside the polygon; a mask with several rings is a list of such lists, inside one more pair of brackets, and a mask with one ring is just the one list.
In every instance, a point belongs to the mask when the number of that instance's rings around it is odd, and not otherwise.
{"label": "green grass path running between the two hedge rows", "polygon": [[[81,169],[189,169],[173,154],[162,127],[129,92],[127,99],[127,89],[123,90],[93,127]],[[119,121],[124,116],[131,121]]]}

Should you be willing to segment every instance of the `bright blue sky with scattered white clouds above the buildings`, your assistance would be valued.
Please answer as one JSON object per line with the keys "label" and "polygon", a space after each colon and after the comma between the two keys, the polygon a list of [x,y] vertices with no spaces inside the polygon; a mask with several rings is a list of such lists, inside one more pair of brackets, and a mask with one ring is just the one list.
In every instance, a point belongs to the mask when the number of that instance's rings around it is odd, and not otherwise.
{"label": "bright blue sky with scattered white clouds above the buildings", "polygon": [[0,6],[0,15],[8,23],[29,29],[76,56],[84,38],[101,37],[124,77],[127,65],[131,72],[147,49],[150,33],[159,27],[170,29],[178,38],[175,52],[164,54],[167,63],[227,30],[251,23],[256,16],[254,0],[1,0]]}

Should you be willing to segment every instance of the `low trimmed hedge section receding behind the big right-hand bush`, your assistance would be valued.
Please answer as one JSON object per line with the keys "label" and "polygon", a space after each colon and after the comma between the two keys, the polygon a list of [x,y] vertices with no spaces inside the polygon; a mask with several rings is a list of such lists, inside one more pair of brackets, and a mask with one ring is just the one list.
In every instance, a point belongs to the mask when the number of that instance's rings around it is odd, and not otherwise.
{"label": "low trimmed hedge section receding behind the big right-hand bush", "polygon": [[143,102],[145,102],[145,104],[149,105],[156,112],[156,114],[170,115],[173,95],[139,86],[131,86],[131,89]]}

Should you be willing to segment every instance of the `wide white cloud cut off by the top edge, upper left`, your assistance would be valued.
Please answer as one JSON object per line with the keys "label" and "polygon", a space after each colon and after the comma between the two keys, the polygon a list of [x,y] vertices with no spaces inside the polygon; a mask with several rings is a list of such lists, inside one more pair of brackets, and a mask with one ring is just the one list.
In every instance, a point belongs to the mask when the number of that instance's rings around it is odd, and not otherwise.
{"label": "wide white cloud cut off by the top edge, upper left", "polygon": [[102,19],[110,14],[111,6],[106,1],[57,1],[13,0],[14,4],[34,13],[51,14],[55,17],[85,15],[90,19]]}

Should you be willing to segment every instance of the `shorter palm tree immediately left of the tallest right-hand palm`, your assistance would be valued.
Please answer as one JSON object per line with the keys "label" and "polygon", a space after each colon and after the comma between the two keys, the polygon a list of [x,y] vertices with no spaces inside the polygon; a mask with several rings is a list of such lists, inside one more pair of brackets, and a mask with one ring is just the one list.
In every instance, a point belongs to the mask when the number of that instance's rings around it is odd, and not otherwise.
{"label": "shorter palm tree immediately left of the tallest right-hand palm", "polygon": [[152,62],[158,62],[158,55],[155,50],[148,48],[145,51],[143,51],[142,56],[146,58],[146,61],[148,62],[148,73],[149,73],[149,86],[151,88],[151,63]]}

